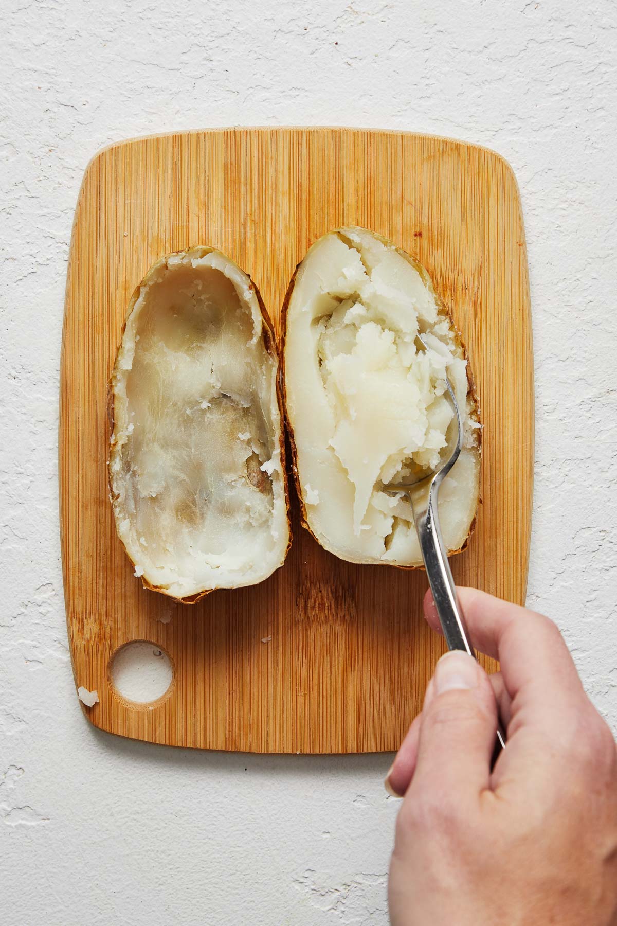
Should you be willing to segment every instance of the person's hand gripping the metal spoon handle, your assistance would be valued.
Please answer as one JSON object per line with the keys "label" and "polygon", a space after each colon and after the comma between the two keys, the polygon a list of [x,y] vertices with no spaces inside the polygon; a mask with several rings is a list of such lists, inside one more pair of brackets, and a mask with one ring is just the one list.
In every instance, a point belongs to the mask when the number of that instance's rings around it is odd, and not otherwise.
{"label": "person's hand gripping the metal spoon handle", "polygon": [[[458,590],[487,676],[439,659],[386,780],[393,926],[617,924],[617,747],[548,618]],[[430,593],[425,615],[438,617]],[[490,770],[497,707],[507,743]]]}

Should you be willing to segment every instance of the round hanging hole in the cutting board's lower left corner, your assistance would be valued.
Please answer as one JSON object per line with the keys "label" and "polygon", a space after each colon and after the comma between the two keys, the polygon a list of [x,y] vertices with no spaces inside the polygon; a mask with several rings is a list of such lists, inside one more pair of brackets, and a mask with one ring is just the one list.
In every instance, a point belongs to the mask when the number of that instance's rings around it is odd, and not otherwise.
{"label": "round hanging hole in the cutting board's lower left corner", "polygon": [[109,678],[123,700],[150,706],[170,693],[174,669],[158,644],[134,640],[120,646],[111,657]]}

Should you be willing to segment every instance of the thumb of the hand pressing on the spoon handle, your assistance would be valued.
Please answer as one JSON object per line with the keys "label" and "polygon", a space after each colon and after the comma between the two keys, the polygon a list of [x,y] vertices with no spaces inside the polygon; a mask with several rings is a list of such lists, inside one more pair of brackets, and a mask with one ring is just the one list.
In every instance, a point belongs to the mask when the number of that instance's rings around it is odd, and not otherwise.
{"label": "thumb of the hand pressing on the spoon handle", "polygon": [[460,651],[442,656],[422,712],[412,789],[478,795],[489,786],[497,706],[487,673]]}

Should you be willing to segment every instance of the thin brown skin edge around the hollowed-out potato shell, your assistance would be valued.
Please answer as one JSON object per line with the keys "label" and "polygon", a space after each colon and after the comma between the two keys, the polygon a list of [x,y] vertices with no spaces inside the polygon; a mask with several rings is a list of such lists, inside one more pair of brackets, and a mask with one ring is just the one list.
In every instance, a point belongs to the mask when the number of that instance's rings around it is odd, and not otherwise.
{"label": "thin brown skin edge around the hollowed-out potato shell", "polygon": [[[124,322],[123,322],[123,324],[122,324],[122,329],[121,329],[121,331],[120,331],[120,336],[119,336],[118,346],[117,346],[117,352],[116,352],[116,358],[115,358],[115,360],[114,360],[114,368],[113,368],[113,370],[112,370],[111,376],[109,377],[109,381],[107,382],[107,420],[108,420],[108,424],[109,424],[109,434],[108,434],[108,438],[111,437],[112,433],[114,432],[114,425],[115,425],[115,416],[114,416],[114,404],[115,404],[114,376],[115,376],[116,369],[117,369],[117,358],[118,358],[118,355],[119,355],[119,353],[120,353],[120,348],[121,348],[121,346],[122,346],[122,341],[124,340],[124,332],[125,332],[126,327],[127,327],[127,320],[129,319],[130,313],[132,312],[133,308],[135,307],[135,303],[137,302],[137,300],[138,300],[139,297],[140,297],[140,293],[141,293],[141,290],[142,290],[142,286],[143,286],[145,283],[149,282],[150,278],[154,275],[154,273],[155,273],[158,269],[160,269],[163,265],[166,265],[166,266],[167,266],[167,260],[169,259],[169,257],[180,257],[180,256],[186,254],[188,251],[196,251],[196,252],[199,252],[199,256],[200,256],[200,257],[205,257],[207,254],[211,254],[211,253],[212,253],[213,251],[215,251],[215,250],[216,250],[216,248],[214,248],[214,247],[207,247],[207,246],[205,246],[205,245],[198,245],[198,246],[196,246],[196,247],[189,247],[189,248],[186,248],[186,249],[184,249],[184,250],[182,250],[182,251],[174,251],[174,252],[171,252],[170,254],[167,254],[165,257],[161,257],[160,260],[157,260],[156,263],[148,270],[148,272],[146,273],[145,277],[142,279],[142,282],[134,289],[133,294],[132,294],[131,297],[130,297],[130,303],[129,303],[129,307],[128,307],[128,309],[127,309],[127,314],[126,314],[126,316],[125,316]],[[245,272],[245,271],[243,271],[243,272]],[[279,359],[279,356],[278,356],[277,339],[276,339],[276,336],[275,336],[274,327],[273,327],[273,325],[272,325],[272,321],[271,321],[271,319],[270,319],[270,316],[268,315],[267,310],[266,310],[266,308],[265,308],[264,300],[262,299],[261,293],[260,293],[259,290],[257,289],[257,286],[255,285],[253,279],[249,276],[248,273],[246,274],[246,276],[248,276],[248,277],[249,277],[249,280],[251,281],[251,286],[253,287],[253,292],[254,292],[254,294],[255,294],[255,296],[256,296],[256,298],[257,298],[257,303],[258,303],[258,305],[259,305],[259,308],[260,308],[260,311],[261,311],[261,314],[262,314],[262,320],[263,320],[263,322],[264,322],[264,330],[263,330],[263,332],[262,332],[262,337],[263,337],[263,339],[264,339],[265,350],[267,351],[267,353],[268,353],[268,355],[269,355],[270,357],[273,357],[273,358],[277,361],[278,371],[279,371],[278,376],[277,376],[277,403],[278,403],[278,413],[279,413],[279,415],[280,415],[280,421],[281,421],[281,430],[280,430],[280,434],[279,434],[279,438],[278,438],[278,444],[279,444],[279,446],[280,446],[280,461],[281,461],[281,471],[282,471],[282,474],[283,474],[283,491],[284,491],[284,494],[285,494],[285,504],[286,504],[286,507],[287,507],[287,521],[288,521],[289,530],[290,530],[290,540],[289,540],[289,543],[287,544],[287,549],[285,550],[285,557],[287,557],[287,554],[288,554],[289,551],[290,551],[290,545],[291,545],[291,539],[292,539],[292,538],[291,538],[291,522],[290,522],[290,485],[289,485],[289,479],[288,479],[288,474],[287,474],[287,460],[286,460],[286,454],[285,454],[285,427],[284,427],[284,422],[285,422],[285,411],[284,411],[284,406],[283,406],[283,394],[282,394],[282,390],[281,390],[280,359]],[[110,462],[110,463],[111,463],[111,460],[112,460],[112,456],[110,455],[110,457],[109,457],[109,462]],[[112,489],[112,484],[111,484],[111,469],[110,469],[109,467],[107,468],[107,484],[108,484],[108,486],[109,486],[109,500],[112,501],[112,500],[113,500],[115,497],[117,497],[117,496],[114,495],[114,492],[113,492],[113,489]],[[116,523],[116,519],[114,519],[114,523]],[[130,561],[130,564],[131,564],[132,566],[135,566],[135,562],[134,562],[133,559],[130,557],[129,551],[127,550],[126,546],[122,543],[122,540],[120,539],[119,535],[118,535],[118,540],[120,541],[120,543],[121,543],[122,546],[124,547],[124,551],[125,551],[125,553],[126,553],[128,559],[129,559],[129,561]],[[149,589],[151,592],[159,592],[159,593],[161,593],[161,594],[165,594],[165,595],[167,595],[168,598],[171,598],[172,601],[176,601],[176,602],[178,602],[178,603],[181,604],[181,605],[195,605],[195,604],[197,604],[198,601],[201,601],[201,599],[204,598],[206,594],[210,594],[211,592],[216,592],[216,591],[217,591],[216,589],[204,589],[203,592],[198,592],[197,594],[191,594],[191,595],[188,595],[188,596],[185,597],[185,598],[176,598],[176,597],[174,597],[174,595],[168,594],[168,592],[167,592],[167,590],[166,590],[165,588],[162,588],[162,587],[159,586],[159,585],[152,585],[150,582],[148,582],[148,580],[147,580],[144,576],[142,576],[141,579],[142,579],[142,585],[143,585],[144,588]]]}

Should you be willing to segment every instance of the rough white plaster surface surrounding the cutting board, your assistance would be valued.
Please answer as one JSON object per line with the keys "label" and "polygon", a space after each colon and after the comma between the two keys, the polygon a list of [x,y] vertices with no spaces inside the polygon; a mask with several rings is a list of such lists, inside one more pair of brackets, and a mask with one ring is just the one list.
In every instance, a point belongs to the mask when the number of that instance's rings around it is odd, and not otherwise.
{"label": "rough white plaster surface surrounding the cutting board", "polygon": [[612,0],[5,0],[0,53],[0,906],[6,926],[385,924],[389,756],[95,732],[75,695],[56,427],[68,243],[104,144],[322,124],[506,156],[537,394],[529,603],[617,730],[617,7]]}

